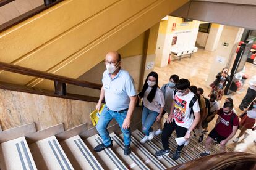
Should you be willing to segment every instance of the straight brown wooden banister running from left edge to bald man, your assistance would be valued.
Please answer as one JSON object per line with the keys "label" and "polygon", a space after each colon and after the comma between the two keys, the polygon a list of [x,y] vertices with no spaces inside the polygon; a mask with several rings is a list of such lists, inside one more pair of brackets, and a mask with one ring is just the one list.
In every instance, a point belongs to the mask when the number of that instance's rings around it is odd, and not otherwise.
{"label": "straight brown wooden banister running from left edge to bald man", "polygon": [[101,89],[101,84],[90,83],[88,81],[82,81],[74,78],[67,78],[65,76],[58,76],[52,73],[46,73],[43,71],[33,70],[31,68],[20,67],[19,65],[13,65],[9,63],[0,62],[0,70],[9,71],[12,73],[19,73],[27,76],[34,76],[37,78],[49,79],[58,81],[59,83],[73,84],[76,86],[88,87],[91,89]]}

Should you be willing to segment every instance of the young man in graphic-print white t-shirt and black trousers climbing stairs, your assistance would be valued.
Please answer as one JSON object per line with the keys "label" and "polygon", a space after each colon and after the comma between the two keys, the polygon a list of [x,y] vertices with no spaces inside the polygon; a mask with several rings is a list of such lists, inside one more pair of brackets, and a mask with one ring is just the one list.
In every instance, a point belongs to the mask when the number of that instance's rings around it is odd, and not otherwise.
{"label": "young man in graphic-print white t-shirt and black trousers climbing stairs", "polygon": [[[168,119],[164,124],[162,132],[163,150],[155,153],[156,156],[168,155],[169,137],[176,131],[177,137],[184,137],[189,140],[192,132],[200,121],[200,107],[196,95],[189,90],[188,79],[180,79],[176,84],[176,91],[173,94],[173,102]],[[179,159],[183,145],[177,145],[177,150],[173,154],[173,160]]]}

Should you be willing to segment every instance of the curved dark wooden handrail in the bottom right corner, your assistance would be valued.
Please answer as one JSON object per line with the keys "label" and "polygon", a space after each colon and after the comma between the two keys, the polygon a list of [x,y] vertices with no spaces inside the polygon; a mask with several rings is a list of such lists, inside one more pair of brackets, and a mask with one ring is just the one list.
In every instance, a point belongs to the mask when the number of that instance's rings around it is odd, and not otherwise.
{"label": "curved dark wooden handrail in the bottom right corner", "polygon": [[[241,163],[251,163],[251,166],[256,166],[256,155],[246,152],[226,152],[218,153],[214,155],[205,156],[202,158],[197,158],[196,160],[189,161],[187,163],[179,164],[173,168],[168,168],[172,170],[176,169],[224,169],[236,164]],[[246,168],[244,168],[246,169]]]}

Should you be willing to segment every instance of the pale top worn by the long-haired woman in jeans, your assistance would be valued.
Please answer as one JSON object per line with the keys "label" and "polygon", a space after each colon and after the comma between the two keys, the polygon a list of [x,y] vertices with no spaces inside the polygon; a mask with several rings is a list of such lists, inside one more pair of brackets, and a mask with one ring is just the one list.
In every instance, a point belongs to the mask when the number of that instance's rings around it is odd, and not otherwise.
{"label": "pale top worn by the long-haired woman in jeans", "polygon": [[148,86],[147,90],[144,93],[143,97],[143,105],[147,107],[149,110],[160,112],[160,108],[164,107],[164,95],[161,89],[157,88],[156,94],[152,102],[150,103],[147,99],[148,94],[150,93],[152,87]]}

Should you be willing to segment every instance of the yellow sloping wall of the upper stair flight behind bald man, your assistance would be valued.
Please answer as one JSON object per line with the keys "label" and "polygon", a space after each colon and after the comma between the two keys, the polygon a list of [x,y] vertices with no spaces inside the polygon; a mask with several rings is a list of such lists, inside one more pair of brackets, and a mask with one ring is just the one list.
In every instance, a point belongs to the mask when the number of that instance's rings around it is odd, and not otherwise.
{"label": "yellow sloping wall of the upper stair flight behind bald man", "polygon": [[[0,61],[78,78],[103,60],[106,52],[120,49],[185,2],[62,1],[0,33]],[[6,71],[1,71],[0,81],[53,88],[51,81]]]}

